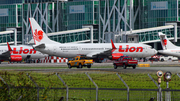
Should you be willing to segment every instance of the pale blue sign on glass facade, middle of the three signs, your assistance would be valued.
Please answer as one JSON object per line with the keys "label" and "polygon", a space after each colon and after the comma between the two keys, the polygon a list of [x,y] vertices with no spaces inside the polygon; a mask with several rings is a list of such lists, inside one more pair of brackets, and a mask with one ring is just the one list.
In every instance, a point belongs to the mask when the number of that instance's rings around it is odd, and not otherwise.
{"label": "pale blue sign on glass facade, middle of the three signs", "polygon": [[69,13],[85,13],[85,6],[84,5],[76,5],[69,7]]}

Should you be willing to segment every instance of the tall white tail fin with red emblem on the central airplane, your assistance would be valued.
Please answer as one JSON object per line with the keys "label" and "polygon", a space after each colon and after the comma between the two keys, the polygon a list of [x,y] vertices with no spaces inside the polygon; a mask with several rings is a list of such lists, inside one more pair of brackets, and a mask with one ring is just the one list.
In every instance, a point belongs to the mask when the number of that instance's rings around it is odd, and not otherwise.
{"label": "tall white tail fin with red emblem on the central airplane", "polygon": [[34,18],[29,18],[35,45],[57,43],[48,38]]}

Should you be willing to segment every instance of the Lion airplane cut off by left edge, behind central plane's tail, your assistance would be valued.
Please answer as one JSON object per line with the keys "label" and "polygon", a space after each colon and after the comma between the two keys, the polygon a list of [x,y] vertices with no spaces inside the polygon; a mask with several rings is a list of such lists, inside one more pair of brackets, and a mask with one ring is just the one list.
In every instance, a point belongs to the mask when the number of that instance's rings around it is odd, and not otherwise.
{"label": "Lion airplane cut off by left edge, behind central plane's tail", "polygon": [[28,45],[10,46],[7,42],[7,46],[0,46],[0,63],[2,61],[21,62],[23,59],[40,59],[48,56]]}

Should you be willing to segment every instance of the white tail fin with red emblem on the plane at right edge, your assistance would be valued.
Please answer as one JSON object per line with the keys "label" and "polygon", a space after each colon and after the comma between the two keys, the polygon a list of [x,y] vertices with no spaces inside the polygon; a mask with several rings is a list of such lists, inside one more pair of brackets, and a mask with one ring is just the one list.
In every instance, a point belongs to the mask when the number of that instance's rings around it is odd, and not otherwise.
{"label": "white tail fin with red emblem on the plane at right edge", "polygon": [[163,34],[162,32],[159,32],[158,33],[159,37],[160,37],[160,40],[161,40],[161,46],[162,48],[165,50],[165,49],[174,49],[174,48],[177,48],[176,45],[174,45],[172,42],[170,42],[166,35]]}

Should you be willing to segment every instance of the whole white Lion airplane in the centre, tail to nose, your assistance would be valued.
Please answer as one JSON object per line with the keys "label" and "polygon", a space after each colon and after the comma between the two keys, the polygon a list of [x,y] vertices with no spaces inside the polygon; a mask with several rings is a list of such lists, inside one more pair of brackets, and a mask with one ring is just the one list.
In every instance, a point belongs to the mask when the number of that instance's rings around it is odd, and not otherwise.
{"label": "whole white Lion airplane in the centre, tail to nose", "polygon": [[[48,38],[34,18],[29,18],[31,32],[34,38],[33,48],[45,54],[62,58],[86,56],[87,58],[104,57],[116,60],[120,56],[148,57],[157,53],[149,45],[142,43],[59,43]],[[116,48],[118,47],[118,48]]]}

